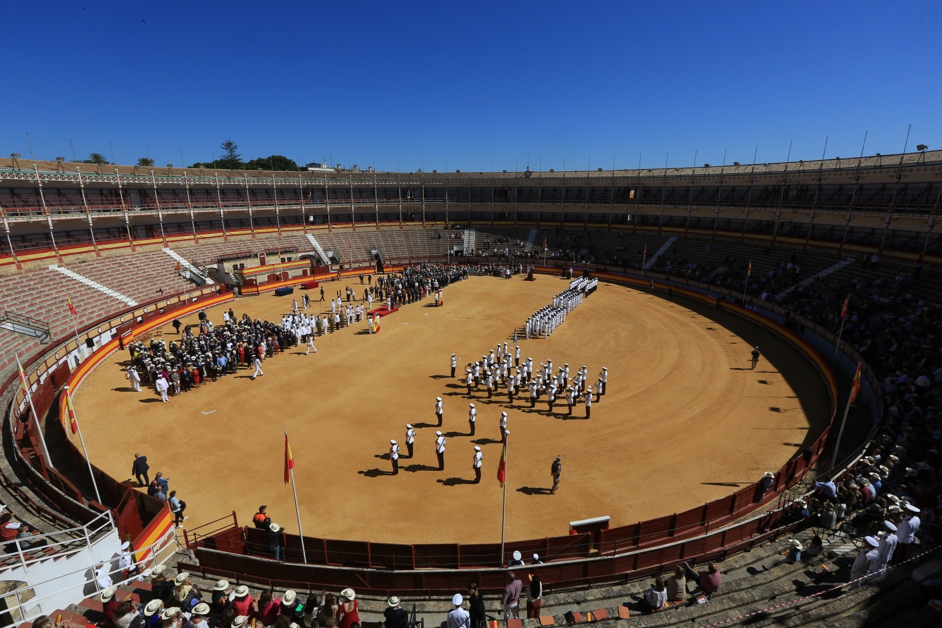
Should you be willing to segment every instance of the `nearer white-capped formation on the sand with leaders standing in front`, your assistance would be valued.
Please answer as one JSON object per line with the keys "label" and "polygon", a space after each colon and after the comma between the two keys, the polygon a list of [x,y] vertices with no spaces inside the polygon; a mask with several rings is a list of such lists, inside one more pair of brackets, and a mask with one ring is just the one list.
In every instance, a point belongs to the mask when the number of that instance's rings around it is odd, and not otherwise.
{"label": "nearer white-capped formation on the sand with leaders standing in front", "polygon": [[[458,358],[451,354],[451,377],[456,377],[458,368]],[[597,402],[606,393],[606,386],[609,381],[609,369],[603,367],[598,374],[597,381],[590,382],[589,369],[585,365],[580,367],[576,373],[570,376],[569,364],[564,363],[558,369],[554,370],[553,361],[547,360],[541,362],[539,368],[534,367],[532,358],[520,361],[520,346],[514,345],[513,349],[507,343],[498,343],[495,349],[489,351],[488,355],[481,356],[478,362],[470,362],[465,366],[464,379],[467,385],[468,396],[473,396],[472,388],[479,390],[482,386],[487,388],[488,398],[493,398],[499,385],[503,385],[507,391],[508,401],[512,404],[513,397],[525,396],[521,391],[528,391],[529,407],[534,408],[536,402],[545,396],[545,401],[549,412],[553,412],[554,405],[557,403],[557,397],[562,396],[568,408],[568,415],[572,416],[573,407],[581,401],[586,409],[586,418],[592,416],[593,398]],[[442,397],[435,397],[435,427],[443,427],[445,421],[445,402]],[[468,404],[468,436],[475,436],[477,432],[478,409],[473,402]],[[507,443],[508,417],[506,411],[501,411],[497,417],[497,429],[500,436],[500,443]],[[412,424],[406,425],[405,445],[408,452],[408,458],[412,459],[414,454],[415,429]],[[398,475],[399,470],[399,444],[398,441],[389,442],[389,458],[392,462],[392,475]],[[433,447],[435,456],[438,459],[439,471],[445,470],[445,451],[447,440],[440,431],[435,432],[435,441]],[[471,458],[471,469],[474,472],[474,483],[480,482],[480,469],[484,454],[478,445],[474,447],[474,453]],[[559,464],[559,457],[554,465]],[[555,469],[555,466],[554,466]],[[559,485],[559,473],[553,472],[554,484],[553,492]]]}

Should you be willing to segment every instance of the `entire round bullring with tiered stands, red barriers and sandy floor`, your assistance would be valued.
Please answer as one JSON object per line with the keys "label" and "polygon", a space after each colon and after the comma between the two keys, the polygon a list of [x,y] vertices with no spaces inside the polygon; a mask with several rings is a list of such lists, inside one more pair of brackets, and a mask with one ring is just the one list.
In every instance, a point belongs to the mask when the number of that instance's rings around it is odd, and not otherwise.
{"label": "entire round bullring with tiered stands, red barriers and sandy floor", "polygon": [[[188,572],[207,593],[219,578],[255,596],[355,588],[367,628],[392,595],[437,625],[473,580],[492,619],[517,628],[498,604],[514,552],[544,561],[528,567],[547,594],[544,617],[527,628],[569,623],[570,610],[583,620],[621,614],[625,625],[731,624],[750,613],[762,625],[841,628],[937,619],[913,603],[926,596],[919,570],[936,569],[942,462],[935,406],[914,407],[938,394],[926,330],[942,294],[940,236],[928,218],[942,152],[763,166],[787,171],[787,182],[755,167],[705,167],[695,186],[690,169],[158,177],[86,168],[0,160],[0,489],[13,521],[45,541],[8,545],[10,619],[0,628],[48,614],[73,628],[100,620],[99,576],[143,603],[154,576],[124,572],[132,564]],[[900,171],[910,201],[894,204]],[[828,196],[822,181],[835,186]],[[309,313],[329,310],[346,286],[362,295],[362,276],[375,285],[402,272],[510,264],[523,272],[447,285],[442,307],[430,297],[401,305],[379,334],[358,323],[315,338],[317,353],[289,347],[256,379],[244,366],[162,403],[146,377],[140,392],[124,377],[127,345],[179,341],[173,320],[196,326],[201,311],[216,326],[230,309],[277,322],[302,295]],[[598,289],[552,335],[525,338],[524,321],[568,286],[560,274],[570,267]],[[901,320],[912,322],[905,335]],[[544,398],[534,409],[526,398],[510,403],[503,387],[491,399],[482,388],[469,396],[449,377],[452,353],[461,375],[498,343],[512,347],[514,329],[521,357],[536,364],[585,364],[590,378],[608,368],[591,418],[581,403],[572,417],[562,403],[548,411]],[[444,471],[432,451],[436,396]],[[501,411],[510,430],[503,544]],[[389,441],[403,443],[407,423],[415,456],[392,475]],[[187,502],[180,527],[167,502],[137,486],[136,452]],[[558,455],[560,490],[549,494]],[[767,472],[768,485],[757,485]],[[875,500],[871,474],[884,487]],[[840,520],[816,485],[832,480]],[[284,531],[252,527],[260,504]],[[922,517],[918,542],[853,586],[867,537],[884,518],[911,525],[907,505]],[[818,540],[820,554],[796,556],[792,541],[806,552]],[[698,571],[717,563],[723,588],[706,604],[690,597],[647,615],[651,579],[681,562]]]}

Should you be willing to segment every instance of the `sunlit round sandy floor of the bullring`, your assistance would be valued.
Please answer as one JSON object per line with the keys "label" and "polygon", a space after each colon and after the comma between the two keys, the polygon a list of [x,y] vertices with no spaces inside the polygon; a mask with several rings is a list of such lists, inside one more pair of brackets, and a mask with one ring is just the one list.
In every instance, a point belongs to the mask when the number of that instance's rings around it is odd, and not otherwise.
{"label": "sunlit round sandy floor of the bullring", "polygon": [[[345,284],[328,282],[328,298]],[[160,403],[134,393],[120,351],[78,391],[89,456],[107,473],[129,477],[133,454],[147,455],[151,476],[163,471],[187,501],[187,527],[235,509],[250,523],[259,504],[297,531],[291,487],[284,485],[287,429],[296,461],[304,532],[310,537],[387,542],[493,542],[500,539],[498,418],[510,416],[507,491],[509,540],[564,535],[568,522],[609,515],[634,523],[704,504],[778,469],[827,422],[827,392],[800,354],[739,317],[600,282],[548,339],[520,340],[521,359],[537,364],[609,368],[608,394],[549,414],[541,401],[508,404],[506,391],[473,399],[447,377],[449,356],[463,364],[511,341],[514,326],[551,302],[567,282],[539,276],[503,281],[472,277],[382,320],[317,339],[317,354],[291,349],[251,371],[210,381]],[[317,291],[312,291],[312,296]],[[299,297],[299,292],[295,292]],[[315,305],[323,305],[316,303]],[[329,309],[329,303],[327,303]],[[241,298],[235,314],[278,320],[291,297]],[[315,308],[317,310],[317,308]],[[209,311],[221,323],[222,310]],[[194,322],[195,316],[185,319]],[[163,337],[170,342],[173,329]],[[748,370],[751,346],[763,357]],[[445,399],[446,468],[433,449],[434,399]],[[478,407],[477,436],[467,436],[468,403]],[[405,424],[416,429],[415,458],[391,475],[386,453]],[[811,437],[809,437],[809,430]],[[471,483],[473,447],[484,452],[479,485]],[[550,463],[563,462],[560,491],[548,494]]]}

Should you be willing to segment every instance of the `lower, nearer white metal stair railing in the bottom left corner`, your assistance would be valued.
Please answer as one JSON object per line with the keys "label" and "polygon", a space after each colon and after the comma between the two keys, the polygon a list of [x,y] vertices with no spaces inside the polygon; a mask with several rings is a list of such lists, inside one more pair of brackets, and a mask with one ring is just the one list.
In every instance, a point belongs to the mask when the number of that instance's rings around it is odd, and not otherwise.
{"label": "lower, nearer white metal stair railing in the bottom left corner", "polygon": [[[138,567],[138,572],[143,572],[147,566],[156,565],[162,560],[162,556],[164,557],[170,556],[173,554],[173,552],[176,551],[176,543],[169,542],[170,539],[175,540],[175,534],[176,534],[175,529],[171,527],[171,529],[168,530],[162,537],[160,537],[160,539],[155,540],[153,544],[147,547],[141,547],[138,550],[135,550],[134,554],[146,556],[134,563]],[[8,611],[7,611],[9,613],[10,619],[14,619],[14,621],[12,623],[8,623],[5,626],[0,626],[0,628],[16,628],[16,626],[19,626],[21,623],[35,620],[40,615],[47,615],[48,612],[41,610],[40,603],[43,600],[55,598],[75,588],[79,588],[80,591],[78,591],[77,596],[73,598],[73,604],[78,604],[82,600],[89,597],[89,594],[85,592],[86,588],[88,588],[89,585],[94,586],[93,587],[94,592],[90,593],[90,595],[97,594],[97,592],[99,592],[101,588],[98,587],[98,582],[96,581],[95,576],[93,574],[94,574],[95,567],[97,567],[98,565],[101,565],[103,562],[105,564],[108,564],[111,562],[111,560],[107,559],[105,561],[94,561],[94,564],[83,565],[81,568],[77,570],[73,570],[72,572],[57,573],[56,577],[52,578],[51,580],[53,579],[58,580],[60,578],[68,578],[69,576],[77,576],[79,574],[82,574],[82,580],[81,582],[76,582],[68,587],[59,588],[56,591],[53,591],[52,593],[46,593],[44,595],[37,596],[37,597],[30,597],[26,600],[22,599],[24,594],[33,592],[33,589],[41,585],[42,583],[30,583],[24,587],[14,589],[10,591],[9,593],[6,593],[5,597],[8,600],[8,604],[12,600],[14,599],[16,600],[15,604],[9,604]],[[92,576],[90,579],[85,576],[85,574],[89,572],[92,573]],[[110,572],[110,573],[114,573],[114,572]],[[138,579],[138,577],[139,577],[138,575],[135,575],[130,578],[124,578],[123,580],[112,581],[112,585],[116,587],[121,587],[122,585],[125,585],[129,582],[134,582],[135,580]],[[29,608],[27,609],[26,606],[29,606]],[[19,618],[19,619],[16,619],[16,618]]]}

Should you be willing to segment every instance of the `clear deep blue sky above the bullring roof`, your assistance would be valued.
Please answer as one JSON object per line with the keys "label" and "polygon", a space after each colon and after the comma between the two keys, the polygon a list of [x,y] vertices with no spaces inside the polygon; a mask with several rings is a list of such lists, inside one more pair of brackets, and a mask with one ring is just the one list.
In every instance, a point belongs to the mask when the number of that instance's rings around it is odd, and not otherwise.
{"label": "clear deep blue sky above the bullring roof", "polygon": [[[942,2],[8,3],[0,154],[586,169],[942,148]],[[143,21],[146,21],[146,24]],[[932,43],[935,41],[935,43]],[[398,165],[397,165],[398,160]]]}

